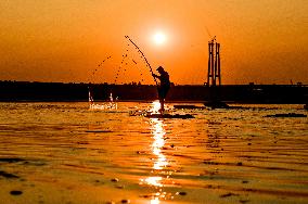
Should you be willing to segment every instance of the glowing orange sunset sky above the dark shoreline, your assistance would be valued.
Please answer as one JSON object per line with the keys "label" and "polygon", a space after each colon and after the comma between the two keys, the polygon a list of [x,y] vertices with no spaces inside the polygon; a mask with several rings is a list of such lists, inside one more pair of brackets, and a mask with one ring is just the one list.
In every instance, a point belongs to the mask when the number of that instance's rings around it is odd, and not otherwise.
{"label": "glowing orange sunset sky above the dark shoreline", "polygon": [[307,0],[1,0],[0,11],[0,80],[154,84],[128,35],[175,84],[205,82],[210,36],[222,84],[308,84]]}

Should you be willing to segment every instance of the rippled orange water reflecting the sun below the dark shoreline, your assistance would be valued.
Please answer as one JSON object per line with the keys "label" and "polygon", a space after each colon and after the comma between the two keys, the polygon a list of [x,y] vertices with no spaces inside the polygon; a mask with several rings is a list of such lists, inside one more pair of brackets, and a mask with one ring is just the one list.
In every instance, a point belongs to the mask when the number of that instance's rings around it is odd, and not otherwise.
{"label": "rippled orange water reflecting the sun below the dark shoreline", "polygon": [[266,117],[303,105],[129,116],[151,105],[0,103],[0,203],[308,202],[308,118]]}

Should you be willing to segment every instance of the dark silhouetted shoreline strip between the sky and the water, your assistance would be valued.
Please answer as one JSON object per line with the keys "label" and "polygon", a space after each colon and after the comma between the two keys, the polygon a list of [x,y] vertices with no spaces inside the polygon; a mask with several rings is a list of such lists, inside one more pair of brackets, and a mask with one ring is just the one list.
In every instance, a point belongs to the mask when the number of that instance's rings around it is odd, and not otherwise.
{"label": "dark silhouetted shoreline strip between the sky and the water", "polygon": [[[62,84],[0,81],[1,102],[87,102],[89,88],[94,101],[107,101],[110,93],[119,101],[153,101],[157,99],[154,85]],[[166,101],[202,103],[205,101],[260,104],[306,104],[307,85],[202,85],[172,86]]]}

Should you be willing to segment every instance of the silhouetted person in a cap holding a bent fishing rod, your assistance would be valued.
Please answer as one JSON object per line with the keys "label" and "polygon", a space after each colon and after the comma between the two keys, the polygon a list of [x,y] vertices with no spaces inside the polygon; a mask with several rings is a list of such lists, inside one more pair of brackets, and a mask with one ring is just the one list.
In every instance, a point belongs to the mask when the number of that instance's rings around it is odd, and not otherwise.
{"label": "silhouetted person in a cap holding a bent fishing rod", "polygon": [[156,71],[158,71],[161,76],[153,74],[153,77],[158,78],[161,80],[161,84],[158,86],[158,98],[161,103],[159,111],[163,113],[165,111],[164,102],[170,89],[170,79],[169,79],[169,74],[162,66],[159,66]]}

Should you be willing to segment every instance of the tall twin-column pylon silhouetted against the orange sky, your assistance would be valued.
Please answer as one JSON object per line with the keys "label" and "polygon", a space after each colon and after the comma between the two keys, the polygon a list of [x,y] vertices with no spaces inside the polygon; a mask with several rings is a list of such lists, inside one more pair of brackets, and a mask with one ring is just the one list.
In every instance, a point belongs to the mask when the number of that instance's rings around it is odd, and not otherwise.
{"label": "tall twin-column pylon silhouetted against the orange sky", "polygon": [[208,42],[208,69],[207,82],[209,87],[221,85],[220,75],[220,43],[216,41],[216,36]]}

